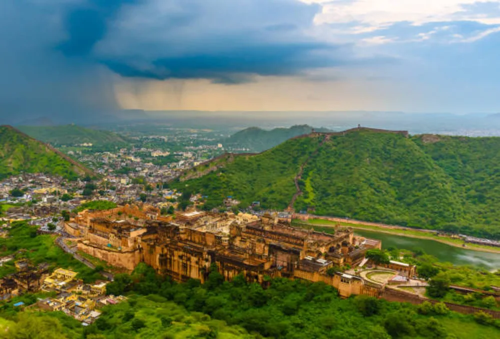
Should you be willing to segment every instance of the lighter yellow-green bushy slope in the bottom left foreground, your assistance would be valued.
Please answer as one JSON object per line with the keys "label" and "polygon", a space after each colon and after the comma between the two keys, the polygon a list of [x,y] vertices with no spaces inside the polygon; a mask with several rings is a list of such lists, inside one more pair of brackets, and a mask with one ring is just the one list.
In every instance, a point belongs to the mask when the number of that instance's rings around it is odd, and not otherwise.
{"label": "lighter yellow-green bushy slope in the bottom left foreground", "polygon": [[[0,338],[253,338],[239,326],[188,312],[159,295],[132,296],[102,309],[90,328],[62,312],[0,312]],[[6,330],[8,328],[8,330]]]}

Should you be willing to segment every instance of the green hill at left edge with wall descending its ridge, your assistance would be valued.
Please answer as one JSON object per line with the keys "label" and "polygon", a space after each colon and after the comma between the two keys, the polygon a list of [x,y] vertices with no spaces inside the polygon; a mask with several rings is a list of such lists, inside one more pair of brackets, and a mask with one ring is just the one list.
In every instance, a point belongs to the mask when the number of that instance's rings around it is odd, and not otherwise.
{"label": "green hill at left edge with wall descending its ridge", "polygon": [[0,178],[20,172],[49,173],[74,178],[92,171],[50,145],[11,126],[0,126]]}

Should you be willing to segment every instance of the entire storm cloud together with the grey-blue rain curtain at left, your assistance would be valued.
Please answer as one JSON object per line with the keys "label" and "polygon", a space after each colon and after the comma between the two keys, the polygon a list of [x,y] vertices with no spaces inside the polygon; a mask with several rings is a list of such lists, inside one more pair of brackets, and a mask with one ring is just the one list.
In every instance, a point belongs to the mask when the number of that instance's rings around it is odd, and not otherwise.
{"label": "entire storm cloud together with the grey-blue rain curtain at left", "polygon": [[352,63],[299,0],[0,0],[0,122],[116,111],[123,77],[252,81]]}

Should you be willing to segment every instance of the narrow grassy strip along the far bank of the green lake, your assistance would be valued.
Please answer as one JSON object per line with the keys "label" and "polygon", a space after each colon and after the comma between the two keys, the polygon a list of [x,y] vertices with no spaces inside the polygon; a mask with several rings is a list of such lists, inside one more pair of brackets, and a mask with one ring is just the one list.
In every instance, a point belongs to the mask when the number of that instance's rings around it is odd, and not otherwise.
{"label": "narrow grassy strip along the far bank of the green lake", "polygon": [[478,245],[475,243],[467,243],[465,246],[463,246],[464,241],[459,238],[452,238],[450,236],[446,235],[435,235],[434,232],[429,231],[429,230],[419,230],[419,229],[407,229],[407,228],[402,228],[398,226],[382,226],[382,225],[365,225],[358,223],[352,223],[352,222],[345,222],[345,221],[330,221],[330,220],[324,220],[324,219],[309,219],[307,221],[299,220],[296,219],[294,220],[297,224],[302,224],[302,225],[311,225],[315,227],[327,227],[331,228],[337,225],[338,223],[341,226],[345,227],[351,227],[353,229],[364,229],[364,230],[369,230],[377,233],[385,233],[385,234],[394,234],[394,235],[401,235],[405,237],[411,237],[411,238],[417,238],[417,239],[427,239],[427,240],[433,240],[437,242],[441,242],[450,246],[454,247],[459,247],[463,249],[470,249],[470,250],[476,250],[476,251],[481,251],[481,252],[489,252],[489,253],[495,253],[495,254],[500,254],[500,248],[495,248],[495,247],[490,247],[490,246],[485,246],[485,245]]}

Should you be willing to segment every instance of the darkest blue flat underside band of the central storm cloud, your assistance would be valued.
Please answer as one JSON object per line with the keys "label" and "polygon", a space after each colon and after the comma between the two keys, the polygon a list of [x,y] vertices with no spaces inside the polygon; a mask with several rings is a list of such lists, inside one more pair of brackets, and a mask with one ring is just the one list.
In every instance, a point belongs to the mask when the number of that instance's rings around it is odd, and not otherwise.
{"label": "darkest blue flat underside band of the central storm cloud", "polygon": [[325,44],[302,43],[284,45],[241,46],[229,52],[170,56],[152,60],[148,69],[141,69],[126,62],[104,61],[114,72],[125,77],[145,77],[158,80],[168,78],[211,79],[217,83],[240,83],[251,79],[251,74],[292,75],[306,68],[338,64],[314,50],[335,48]]}

